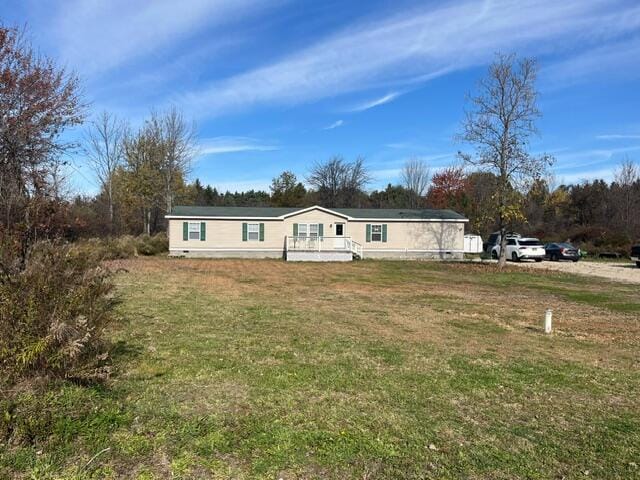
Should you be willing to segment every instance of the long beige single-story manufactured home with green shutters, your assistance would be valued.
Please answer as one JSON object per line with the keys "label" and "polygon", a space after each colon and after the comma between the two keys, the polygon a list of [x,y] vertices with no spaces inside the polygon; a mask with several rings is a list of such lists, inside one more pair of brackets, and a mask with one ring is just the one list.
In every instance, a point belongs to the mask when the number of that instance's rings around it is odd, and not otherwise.
{"label": "long beige single-story manufactured home with green shutters", "polygon": [[169,254],[186,257],[460,259],[464,224],[451,210],[176,206]]}

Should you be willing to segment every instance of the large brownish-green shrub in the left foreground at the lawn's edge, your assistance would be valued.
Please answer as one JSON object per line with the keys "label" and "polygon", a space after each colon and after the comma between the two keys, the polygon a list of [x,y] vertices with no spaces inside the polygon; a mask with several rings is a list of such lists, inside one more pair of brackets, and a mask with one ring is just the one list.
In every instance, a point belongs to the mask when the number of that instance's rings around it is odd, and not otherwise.
{"label": "large brownish-green shrub in the left foreground at the lawn's edge", "polygon": [[110,273],[95,258],[59,242],[41,242],[23,266],[0,273],[0,374],[29,377],[104,376],[102,339],[113,318]]}

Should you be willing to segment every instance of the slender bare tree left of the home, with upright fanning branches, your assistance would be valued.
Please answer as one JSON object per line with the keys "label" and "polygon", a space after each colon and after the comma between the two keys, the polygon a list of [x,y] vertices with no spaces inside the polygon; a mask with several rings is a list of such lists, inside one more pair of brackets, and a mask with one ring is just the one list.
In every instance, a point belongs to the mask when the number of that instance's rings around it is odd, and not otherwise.
{"label": "slender bare tree left of the home, with upright fanning branches", "polygon": [[116,116],[103,111],[85,131],[85,151],[89,164],[109,203],[109,231],[113,233],[113,176],[124,159],[124,139],[127,125]]}

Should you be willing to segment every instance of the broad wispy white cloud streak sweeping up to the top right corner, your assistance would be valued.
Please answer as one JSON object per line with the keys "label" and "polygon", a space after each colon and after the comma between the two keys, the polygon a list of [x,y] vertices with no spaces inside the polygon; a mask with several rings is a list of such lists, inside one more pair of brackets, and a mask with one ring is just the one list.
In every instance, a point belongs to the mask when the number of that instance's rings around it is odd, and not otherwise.
{"label": "broad wispy white cloud streak sweeping up to the top right corner", "polygon": [[[480,65],[499,50],[557,53],[636,30],[640,6],[604,0],[458,1],[351,25],[275,63],[174,99],[206,116],[297,104],[429,79]],[[630,68],[634,57],[618,58]],[[635,57],[637,58],[637,57]],[[556,70],[556,74],[562,72]]]}

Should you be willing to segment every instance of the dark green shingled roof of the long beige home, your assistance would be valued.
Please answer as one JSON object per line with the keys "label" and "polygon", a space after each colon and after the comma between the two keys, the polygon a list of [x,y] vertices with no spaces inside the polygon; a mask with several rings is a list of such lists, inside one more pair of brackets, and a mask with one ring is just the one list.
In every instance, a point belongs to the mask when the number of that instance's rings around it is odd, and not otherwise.
{"label": "dark green shingled roof of the long beige home", "polygon": [[[273,217],[277,218],[288,213],[305,210],[300,207],[191,207],[175,206],[171,215],[182,217]],[[376,218],[389,220],[466,220],[453,210],[404,209],[404,208],[327,208],[327,210],[341,213],[348,217]]]}

